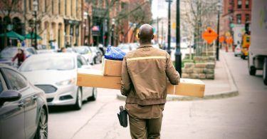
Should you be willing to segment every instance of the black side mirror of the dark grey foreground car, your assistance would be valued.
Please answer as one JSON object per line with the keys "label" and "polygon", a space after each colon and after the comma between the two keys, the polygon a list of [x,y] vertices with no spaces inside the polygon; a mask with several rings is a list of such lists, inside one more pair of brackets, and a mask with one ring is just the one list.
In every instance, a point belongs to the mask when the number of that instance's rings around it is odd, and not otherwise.
{"label": "black side mirror of the dark grey foreground car", "polygon": [[1,103],[4,103],[6,101],[18,101],[19,98],[21,98],[21,93],[19,93],[18,91],[14,91],[14,90],[3,91],[0,94]]}

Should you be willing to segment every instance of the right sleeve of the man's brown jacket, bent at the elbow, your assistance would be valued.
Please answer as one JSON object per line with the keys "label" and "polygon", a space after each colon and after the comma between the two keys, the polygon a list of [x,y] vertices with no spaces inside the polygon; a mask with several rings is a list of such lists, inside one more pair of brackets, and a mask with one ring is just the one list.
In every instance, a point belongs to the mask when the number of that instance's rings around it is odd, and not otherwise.
{"label": "right sleeve of the man's brown jacket, bent at the elbow", "polygon": [[177,85],[180,82],[180,75],[178,71],[175,70],[172,58],[167,53],[167,67],[166,67],[166,75],[169,78],[169,82],[172,83],[172,85]]}

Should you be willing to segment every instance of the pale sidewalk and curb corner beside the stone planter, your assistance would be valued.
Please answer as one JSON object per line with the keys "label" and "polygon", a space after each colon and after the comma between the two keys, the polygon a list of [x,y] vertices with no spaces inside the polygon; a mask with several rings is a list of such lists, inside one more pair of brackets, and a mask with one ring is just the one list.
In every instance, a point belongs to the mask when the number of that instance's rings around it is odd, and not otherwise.
{"label": "pale sidewalk and curb corner beside the stone planter", "polygon": [[[220,51],[219,54],[220,58],[219,61],[216,61],[215,67],[215,79],[202,80],[206,85],[204,98],[168,95],[167,101],[193,101],[238,96],[239,92],[234,84],[233,78],[225,61],[225,52]],[[120,93],[117,93],[117,98],[122,101],[125,101],[126,99],[126,97],[122,96]]]}

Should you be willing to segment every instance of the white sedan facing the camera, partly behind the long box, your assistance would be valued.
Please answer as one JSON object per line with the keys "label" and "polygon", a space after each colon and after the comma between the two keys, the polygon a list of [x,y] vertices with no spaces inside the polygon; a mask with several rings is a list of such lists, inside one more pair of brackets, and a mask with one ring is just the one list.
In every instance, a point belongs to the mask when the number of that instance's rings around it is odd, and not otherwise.
{"label": "white sedan facing the camera, partly behind the long box", "polygon": [[77,53],[43,53],[26,59],[19,71],[46,93],[48,105],[73,105],[80,110],[83,101],[95,101],[97,90],[76,86],[78,68],[90,65]]}

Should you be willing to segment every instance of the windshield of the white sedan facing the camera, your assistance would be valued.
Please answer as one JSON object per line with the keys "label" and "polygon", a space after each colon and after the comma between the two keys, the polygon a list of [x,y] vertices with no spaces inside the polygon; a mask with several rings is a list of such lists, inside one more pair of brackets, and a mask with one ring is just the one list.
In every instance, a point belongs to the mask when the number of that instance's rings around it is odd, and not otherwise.
{"label": "windshield of the white sedan facing the camera", "polygon": [[31,58],[25,61],[20,71],[38,70],[72,70],[75,68],[74,59],[70,57],[53,56],[50,58]]}

